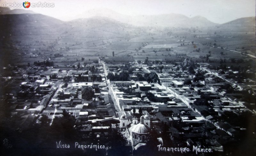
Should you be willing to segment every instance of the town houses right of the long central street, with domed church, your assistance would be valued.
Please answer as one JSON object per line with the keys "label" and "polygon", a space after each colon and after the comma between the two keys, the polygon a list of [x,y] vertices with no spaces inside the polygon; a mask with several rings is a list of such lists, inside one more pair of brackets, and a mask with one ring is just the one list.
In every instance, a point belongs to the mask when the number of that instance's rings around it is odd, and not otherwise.
{"label": "town houses right of the long central street, with domed church", "polygon": [[[190,61],[188,60],[183,62],[183,65],[188,66],[189,64]],[[218,142],[225,144],[233,136],[244,133],[244,128],[243,125],[234,125],[228,121],[223,121],[222,118],[227,117],[230,113],[237,116],[243,112],[255,113],[255,109],[248,109],[246,102],[241,100],[243,96],[241,93],[228,94],[224,89],[221,89],[221,86],[228,83],[234,90],[241,90],[238,86],[242,84],[237,84],[232,79],[225,79],[218,71],[209,70],[208,64],[199,64],[194,69],[196,73],[200,72],[203,76],[203,79],[198,79],[196,82],[193,81],[196,74],[190,74],[186,69],[182,70],[180,65],[174,66],[163,63],[149,66],[137,62],[132,62],[131,65],[135,68],[134,77],[137,73],[156,72],[161,82],[161,84],[148,83],[138,81],[135,78],[130,79],[130,81],[111,82],[115,98],[124,114],[120,117],[120,127],[128,138],[129,144],[135,149],[145,145],[148,127],[157,127],[161,122],[166,122],[169,125],[175,123],[180,125],[169,127],[167,132],[171,138],[182,135],[183,138],[187,139],[188,144],[198,145],[195,141],[198,136],[207,134],[206,142],[214,144],[215,150],[223,151],[223,147]],[[164,66],[161,71],[159,66]],[[216,82],[215,77],[219,77],[223,81]],[[191,81],[191,84],[184,84],[187,80]],[[250,85],[250,89],[252,88],[253,85]],[[124,90],[128,89],[133,90],[133,92],[125,93]],[[163,102],[150,101],[146,96],[148,93],[152,93],[155,98]],[[207,95],[209,99],[206,99],[205,103],[195,104],[195,101],[204,98],[201,94]],[[141,118],[138,116],[140,109],[142,110]],[[145,116],[147,122],[149,119],[151,124],[145,125]],[[143,125],[137,126],[141,122]],[[206,129],[204,129],[205,125],[207,125]],[[143,129],[143,132],[139,132],[138,129]],[[161,128],[158,130],[161,131]],[[212,144],[211,147],[213,147]]]}

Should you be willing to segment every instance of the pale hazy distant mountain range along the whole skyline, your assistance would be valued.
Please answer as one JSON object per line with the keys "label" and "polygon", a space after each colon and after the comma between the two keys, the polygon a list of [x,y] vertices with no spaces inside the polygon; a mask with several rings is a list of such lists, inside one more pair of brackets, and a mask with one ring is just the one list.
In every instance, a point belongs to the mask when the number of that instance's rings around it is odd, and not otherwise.
{"label": "pale hazy distant mountain range along the whole skyline", "polygon": [[[14,9],[0,7],[0,15],[3,14],[36,14],[33,11],[27,11],[23,9]],[[70,20],[69,23],[74,21],[83,21],[81,19],[100,19],[103,20],[112,20],[115,22],[121,22],[133,26],[143,26],[143,27],[255,27],[255,17],[241,18],[236,19],[224,24],[216,24],[202,16],[196,16],[189,18],[182,14],[160,14],[160,15],[137,15],[137,16],[128,16],[123,15],[117,12],[114,12],[109,9],[92,9],[85,11],[82,14],[76,15],[75,20]],[[74,19],[74,17],[67,17],[68,19]],[[56,19],[57,20],[57,19]],[[106,24],[106,21],[105,21]],[[252,27],[251,27],[252,26]],[[253,29],[253,28],[252,28]]]}

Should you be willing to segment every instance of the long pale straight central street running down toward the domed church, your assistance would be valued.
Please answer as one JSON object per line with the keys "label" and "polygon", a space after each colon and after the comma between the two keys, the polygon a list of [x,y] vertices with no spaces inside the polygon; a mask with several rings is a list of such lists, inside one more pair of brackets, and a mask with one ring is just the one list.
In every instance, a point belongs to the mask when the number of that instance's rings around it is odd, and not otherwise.
{"label": "long pale straight central street running down toward the domed church", "polygon": [[120,108],[119,101],[118,101],[117,97],[114,94],[114,90],[113,90],[113,87],[111,85],[111,82],[109,80],[107,80],[108,72],[107,72],[105,63],[104,63],[104,61],[101,61],[101,63],[102,63],[102,66],[103,66],[105,77],[106,77],[106,83],[108,85],[108,93],[112,97],[114,106],[116,108],[116,113],[117,113],[118,117],[120,117],[123,114],[122,111],[121,111],[122,109]]}

